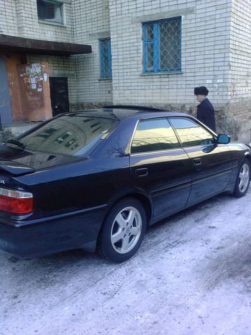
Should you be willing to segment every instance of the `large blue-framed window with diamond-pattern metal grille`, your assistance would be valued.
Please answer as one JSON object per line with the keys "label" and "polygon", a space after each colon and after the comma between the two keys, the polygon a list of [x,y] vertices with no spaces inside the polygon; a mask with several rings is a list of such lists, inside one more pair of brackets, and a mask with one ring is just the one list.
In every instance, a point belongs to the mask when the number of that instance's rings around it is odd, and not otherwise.
{"label": "large blue-framed window with diamond-pattern metal grille", "polygon": [[181,17],[144,22],[143,72],[181,71]]}

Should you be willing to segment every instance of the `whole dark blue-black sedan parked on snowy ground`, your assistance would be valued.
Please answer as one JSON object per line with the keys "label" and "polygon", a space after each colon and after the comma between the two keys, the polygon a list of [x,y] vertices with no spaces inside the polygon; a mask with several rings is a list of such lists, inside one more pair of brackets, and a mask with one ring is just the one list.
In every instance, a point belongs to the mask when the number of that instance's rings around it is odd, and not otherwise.
{"label": "whole dark blue-black sedan parked on snowy ground", "polygon": [[84,248],[122,262],[149,225],[250,184],[248,145],[147,108],[61,114],[0,156],[0,248],[21,258]]}

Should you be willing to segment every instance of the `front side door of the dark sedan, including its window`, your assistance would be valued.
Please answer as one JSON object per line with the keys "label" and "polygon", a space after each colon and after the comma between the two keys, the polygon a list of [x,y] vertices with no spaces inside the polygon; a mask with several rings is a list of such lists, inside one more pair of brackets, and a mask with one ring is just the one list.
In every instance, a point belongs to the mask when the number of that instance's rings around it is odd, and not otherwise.
{"label": "front side door of the dark sedan, including its window", "polygon": [[169,118],[192,163],[188,202],[198,202],[225,191],[231,182],[232,159],[227,144],[217,144],[213,133],[189,117]]}

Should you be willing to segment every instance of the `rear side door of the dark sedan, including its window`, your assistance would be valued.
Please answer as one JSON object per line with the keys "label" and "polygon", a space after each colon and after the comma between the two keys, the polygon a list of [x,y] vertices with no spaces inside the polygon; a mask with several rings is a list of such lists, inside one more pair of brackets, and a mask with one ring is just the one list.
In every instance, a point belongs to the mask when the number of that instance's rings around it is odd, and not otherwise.
{"label": "rear side door of the dark sedan, including its window", "polygon": [[132,183],[151,197],[155,217],[185,207],[191,187],[190,158],[167,118],[139,121],[130,147],[130,170]]}

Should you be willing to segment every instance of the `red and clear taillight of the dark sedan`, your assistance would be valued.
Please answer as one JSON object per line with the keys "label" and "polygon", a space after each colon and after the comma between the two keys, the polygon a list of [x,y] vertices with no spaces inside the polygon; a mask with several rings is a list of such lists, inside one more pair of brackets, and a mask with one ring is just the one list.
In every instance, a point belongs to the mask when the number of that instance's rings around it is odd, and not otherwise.
{"label": "red and clear taillight of the dark sedan", "polygon": [[0,211],[28,214],[33,211],[33,195],[29,192],[0,188]]}

